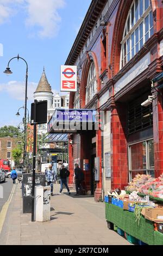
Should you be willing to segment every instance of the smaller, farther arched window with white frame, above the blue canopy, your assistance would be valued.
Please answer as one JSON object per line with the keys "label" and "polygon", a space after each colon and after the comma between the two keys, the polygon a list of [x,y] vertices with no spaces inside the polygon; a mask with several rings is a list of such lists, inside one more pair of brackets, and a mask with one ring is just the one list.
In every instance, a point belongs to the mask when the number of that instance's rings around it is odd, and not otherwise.
{"label": "smaller, farther arched window with white frame, above the blue canopy", "polygon": [[89,74],[87,77],[87,85],[86,85],[86,104],[90,102],[90,100],[95,96],[97,90],[97,81],[96,81],[96,69],[95,63],[92,62],[89,70]]}

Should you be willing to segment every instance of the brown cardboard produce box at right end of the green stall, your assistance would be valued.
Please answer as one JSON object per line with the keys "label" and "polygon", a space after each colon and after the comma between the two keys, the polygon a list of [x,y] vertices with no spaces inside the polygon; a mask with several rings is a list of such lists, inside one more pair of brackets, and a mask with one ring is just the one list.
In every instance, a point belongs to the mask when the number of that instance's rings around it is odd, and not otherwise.
{"label": "brown cardboard produce box at right end of the green stall", "polygon": [[145,210],[145,218],[153,222],[163,222],[163,207],[156,207],[154,209]]}

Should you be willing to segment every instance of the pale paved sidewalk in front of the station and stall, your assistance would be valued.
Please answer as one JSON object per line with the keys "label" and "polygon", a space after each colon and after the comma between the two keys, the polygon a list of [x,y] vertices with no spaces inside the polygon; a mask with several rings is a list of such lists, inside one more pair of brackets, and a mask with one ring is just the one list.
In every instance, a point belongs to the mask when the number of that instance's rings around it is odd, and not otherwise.
{"label": "pale paved sidewalk in front of the station and stall", "polygon": [[31,222],[30,213],[22,213],[20,184],[15,192],[0,234],[0,245],[130,245],[105,220],[105,204],[93,197],[74,197],[59,192],[54,184],[51,197],[51,221]]}

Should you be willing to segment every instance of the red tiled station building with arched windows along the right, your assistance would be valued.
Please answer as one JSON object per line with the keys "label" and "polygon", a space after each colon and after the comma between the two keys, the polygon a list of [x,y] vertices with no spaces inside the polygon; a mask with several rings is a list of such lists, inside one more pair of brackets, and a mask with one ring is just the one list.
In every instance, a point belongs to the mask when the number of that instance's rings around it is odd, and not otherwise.
{"label": "red tiled station building with arched windows along the right", "polygon": [[104,111],[105,130],[68,135],[69,185],[74,163],[96,201],[137,173],[162,174],[163,1],[92,0],[65,64],[78,70],[70,109]]}

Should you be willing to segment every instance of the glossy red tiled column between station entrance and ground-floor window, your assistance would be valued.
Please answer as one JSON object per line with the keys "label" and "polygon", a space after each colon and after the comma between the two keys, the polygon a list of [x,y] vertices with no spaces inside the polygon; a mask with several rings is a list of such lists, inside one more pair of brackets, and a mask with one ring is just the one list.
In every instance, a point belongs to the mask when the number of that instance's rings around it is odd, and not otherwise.
{"label": "glossy red tiled column between station entrance and ground-floor window", "polygon": [[126,140],[126,106],[111,111],[111,188],[124,189],[128,184],[128,155]]}

